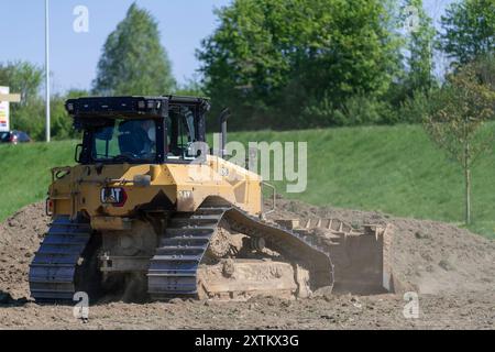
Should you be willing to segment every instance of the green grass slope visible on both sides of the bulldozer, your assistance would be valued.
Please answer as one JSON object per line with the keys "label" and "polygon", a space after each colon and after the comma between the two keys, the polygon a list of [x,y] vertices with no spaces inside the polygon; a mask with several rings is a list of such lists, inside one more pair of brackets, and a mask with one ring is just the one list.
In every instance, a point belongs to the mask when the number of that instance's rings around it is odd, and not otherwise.
{"label": "green grass slope visible on both sides of the bulldozer", "polygon": [[[421,127],[231,133],[230,141],[308,142],[308,188],[285,195],[310,204],[462,223],[463,178]],[[0,220],[44,199],[50,168],[73,164],[75,142],[0,146]],[[471,229],[495,238],[495,156],[473,169]],[[275,183],[284,194],[282,183]]]}

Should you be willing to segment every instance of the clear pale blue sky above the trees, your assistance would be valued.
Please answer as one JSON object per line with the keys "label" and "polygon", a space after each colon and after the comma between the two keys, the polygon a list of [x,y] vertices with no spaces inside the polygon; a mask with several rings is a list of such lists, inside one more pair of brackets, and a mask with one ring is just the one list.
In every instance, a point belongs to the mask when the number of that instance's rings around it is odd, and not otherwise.
{"label": "clear pale blue sky above the trees", "polygon": [[[133,0],[50,0],[51,72],[53,89],[88,89],[96,75],[108,34],[125,16]],[[160,22],[162,43],[179,82],[195,75],[195,50],[217,26],[213,8],[230,0],[138,0]],[[451,0],[426,0],[430,15],[439,19]],[[77,6],[89,10],[89,32],[73,30]],[[44,0],[0,0],[0,62],[30,61],[44,65]]]}

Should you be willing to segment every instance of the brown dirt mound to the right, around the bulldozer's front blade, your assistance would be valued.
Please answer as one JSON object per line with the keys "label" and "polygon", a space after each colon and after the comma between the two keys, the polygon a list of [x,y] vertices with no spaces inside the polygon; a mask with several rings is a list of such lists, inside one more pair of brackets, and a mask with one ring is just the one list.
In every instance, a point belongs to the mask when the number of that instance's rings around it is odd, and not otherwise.
{"label": "brown dirt mound to the right, around the bulldozer's front blade", "polygon": [[454,226],[377,212],[314,207],[277,200],[271,219],[340,219],[352,226],[393,224],[393,274],[399,290],[420,294],[493,290],[495,242]]}

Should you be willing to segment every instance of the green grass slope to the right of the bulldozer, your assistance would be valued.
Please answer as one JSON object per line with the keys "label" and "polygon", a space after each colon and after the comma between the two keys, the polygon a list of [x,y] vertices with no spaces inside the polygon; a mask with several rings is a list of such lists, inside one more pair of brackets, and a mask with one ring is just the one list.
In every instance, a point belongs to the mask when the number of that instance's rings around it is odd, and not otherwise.
{"label": "green grass slope to the right of the bulldozer", "polygon": [[[493,127],[491,127],[493,128]],[[308,142],[310,204],[462,223],[463,177],[421,127],[370,127],[233,134],[240,141]],[[473,168],[471,230],[495,239],[495,155]],[[277,188],[285,187],[277,184]]]}

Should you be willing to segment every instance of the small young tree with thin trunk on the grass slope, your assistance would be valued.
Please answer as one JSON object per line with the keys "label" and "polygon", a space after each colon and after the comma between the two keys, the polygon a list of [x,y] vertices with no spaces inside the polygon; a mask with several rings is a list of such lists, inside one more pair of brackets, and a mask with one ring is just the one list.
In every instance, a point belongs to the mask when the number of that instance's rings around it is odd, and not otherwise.
{"label": "small young tree with thin trunk on the grass slope", "polygon": [[471,223],[471,170],[477,158],[493,148],[495,132],[483,128],[495,118],[494,77],[487,77],[474,62],[449,76],[444,87],[432,97],[426,130],[432,140],[463,168],[465,223]]}

